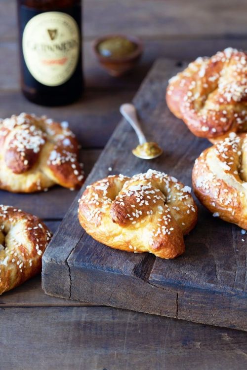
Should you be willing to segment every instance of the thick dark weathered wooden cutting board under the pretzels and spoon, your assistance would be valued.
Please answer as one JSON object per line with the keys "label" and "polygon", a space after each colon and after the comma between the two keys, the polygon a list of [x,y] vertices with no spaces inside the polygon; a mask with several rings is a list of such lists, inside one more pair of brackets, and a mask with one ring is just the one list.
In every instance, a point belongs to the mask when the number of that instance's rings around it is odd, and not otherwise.
{"label": "thick dark weathered wooden cutting board under the pretzels and spoon", "polygon": [[[193,136],[166,107],[167,80],[184,67],[174,60],[158,60],[134,98],[144,132],[164,154],[152,161],[134,157],[131,149],[137,138],[123,119],[79,196],[86,185],[110,174],[132,176],[149,168],[191,185],[194,160],[210,143]],[[247,330],[247,242],[239,227],[213,218],[197,203],[199,220],[185,237],[186,253],[165,260],[96,242],[78,222],[76,198],[43,256],[45,293]]]}

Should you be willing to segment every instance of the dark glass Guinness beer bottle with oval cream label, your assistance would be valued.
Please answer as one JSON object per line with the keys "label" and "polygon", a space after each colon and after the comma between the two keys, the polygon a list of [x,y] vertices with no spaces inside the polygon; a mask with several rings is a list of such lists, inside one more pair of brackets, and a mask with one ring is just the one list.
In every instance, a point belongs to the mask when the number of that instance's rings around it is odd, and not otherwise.
{"label": "dark glass Guinness beer bottle with oval cream label", "polygon": [[17,0],[21,88],[32,102],[68,104],[82,93],[81,0]]}

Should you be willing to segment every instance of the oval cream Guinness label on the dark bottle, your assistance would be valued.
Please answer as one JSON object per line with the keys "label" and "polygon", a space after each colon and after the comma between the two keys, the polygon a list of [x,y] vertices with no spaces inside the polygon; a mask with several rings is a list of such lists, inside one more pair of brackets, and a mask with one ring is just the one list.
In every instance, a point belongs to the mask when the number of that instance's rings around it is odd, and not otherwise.
{"label": "oval cream Guinness label on the dark bottle", "polygon": [[69,14],[49,11],[31,18],[22,37],[24,60],[33,77],[46,86],[66,82],[77,67],[80,31]]}

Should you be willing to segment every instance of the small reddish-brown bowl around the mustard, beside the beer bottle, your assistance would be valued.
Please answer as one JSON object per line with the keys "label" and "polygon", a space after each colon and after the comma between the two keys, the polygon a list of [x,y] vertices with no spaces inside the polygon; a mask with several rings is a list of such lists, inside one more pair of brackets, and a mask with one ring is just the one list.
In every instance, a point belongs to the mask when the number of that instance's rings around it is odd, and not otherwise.
{"label": "small reddish-brown bowl around the mustard, beside the beer bottle", "polygon": [[[128,39],[136,45],[136,49],[132,53],[124,57],[114,58],[111,56],[103,56],[99,52],[99,44],[113,37],[124,37]],[[107,35],[94,40],[93,50],[102,67],[104,67],[112,76],[118,77],[130,71],[136,65],[142,55],[143,46],[141,40],[137,37],[126,35]]]}

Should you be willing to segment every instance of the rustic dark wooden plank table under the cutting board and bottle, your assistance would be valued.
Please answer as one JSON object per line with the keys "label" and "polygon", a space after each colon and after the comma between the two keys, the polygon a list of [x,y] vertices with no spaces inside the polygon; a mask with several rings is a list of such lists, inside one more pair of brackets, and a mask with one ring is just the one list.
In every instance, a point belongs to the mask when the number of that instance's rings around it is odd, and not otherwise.
{"label": "rustic dark wooden plank table under the cutting board and bottle", "polygon": [[[211,55],[227,46],[246,48],[245,0],[85,0],[83,98],[44,108],[20,94],[15,0],[0,1],[0,116],[21,111],[66,119],[81,144],[85,172],[158,57]],[[102,71],[91,40],[107,33],[142,37],[138,68],[115,79]],[[59,194],[59,197],[57,196]],[[37,214],[55,231],[75,192],[37,195],[0,192],[0,203]],[[38,276],[0,296],[1,370],[246,369],[247,334],[241,331],[46,296]]]}

